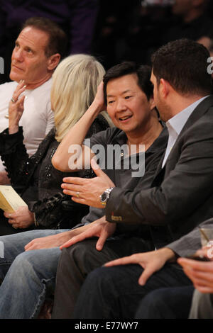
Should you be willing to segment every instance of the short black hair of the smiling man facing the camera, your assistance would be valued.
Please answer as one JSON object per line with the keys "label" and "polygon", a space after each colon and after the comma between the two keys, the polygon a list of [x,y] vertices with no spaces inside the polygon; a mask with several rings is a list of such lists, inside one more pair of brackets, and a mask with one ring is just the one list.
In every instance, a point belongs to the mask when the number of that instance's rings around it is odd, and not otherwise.
{"label": "short black hair of the smiling man facing the camera", "polygon": [[107,105],[107,84],[111,79],[117,79],[124,77],[124,75],[136,74],[138,77],[138,86],[146,94],[149,100],[153,97],[153,84],[150,81],[151,78],[151,67],[148,65],[138,65],[135,62],[121,62],[116,64],[114,67],[108,69],[104,75],[104,102]]}

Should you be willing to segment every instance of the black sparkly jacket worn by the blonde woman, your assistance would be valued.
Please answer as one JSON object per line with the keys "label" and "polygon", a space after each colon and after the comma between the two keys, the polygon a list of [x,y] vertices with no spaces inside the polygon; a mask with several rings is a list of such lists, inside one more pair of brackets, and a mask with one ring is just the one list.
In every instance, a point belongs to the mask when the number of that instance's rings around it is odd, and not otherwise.
{"label": "black sparkly jacket worn by the blonde woman", "polygon": [[[102,115],[94,120],[87,137],[109,127]],[[23,145],[23,130],[9,135],[8,129],[0,133],[0,154],[11,179],[11,185],[21,194],[29,210],[35,213],[36,226],[41,228],[72,227],[88,213],[86,205],[72,202],[62,193],[62,179],[69,172],[56,170],[51,159],[59,142],[55,129],[50,130],[32,157]],[[93,171],[75,172],[75,176],[91,178]]]}

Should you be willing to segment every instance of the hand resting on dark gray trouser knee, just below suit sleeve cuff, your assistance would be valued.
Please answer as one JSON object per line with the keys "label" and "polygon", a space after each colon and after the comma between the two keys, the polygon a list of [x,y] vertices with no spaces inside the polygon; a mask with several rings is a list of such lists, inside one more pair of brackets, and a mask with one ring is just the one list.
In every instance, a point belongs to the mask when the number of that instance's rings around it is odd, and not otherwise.
{"label": "hand resting on dark gray trouser knee, just below suit sleeve cuff", "polygon": [[90,223],[86,227],[86,231],[82,232],[76,237],[73,237],[65,244],[62,244],[60,249],[63,247],[70,247],[71,245],[76,244],[77,242],[81,242],[87,238],[99,237],[96,244],[96,249],[97,251],[102,251],[107,238],[114,234],[116,230],[116,223],[107,222],[105,216],[103,216],[99,220]]}

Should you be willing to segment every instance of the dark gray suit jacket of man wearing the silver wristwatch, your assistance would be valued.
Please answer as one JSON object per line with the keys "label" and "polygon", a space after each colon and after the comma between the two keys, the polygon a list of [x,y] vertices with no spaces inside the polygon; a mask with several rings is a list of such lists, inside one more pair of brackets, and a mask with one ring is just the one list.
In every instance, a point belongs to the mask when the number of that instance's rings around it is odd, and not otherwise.
{"label": "dark gray suit jacket of man wearing the silver wristwatch", "polygon": [[109,222],[151,226],[159,247],[213,217],[213,96],[190,115],[163,169],[162,162],[151,188],[114,188],[106,208]]}

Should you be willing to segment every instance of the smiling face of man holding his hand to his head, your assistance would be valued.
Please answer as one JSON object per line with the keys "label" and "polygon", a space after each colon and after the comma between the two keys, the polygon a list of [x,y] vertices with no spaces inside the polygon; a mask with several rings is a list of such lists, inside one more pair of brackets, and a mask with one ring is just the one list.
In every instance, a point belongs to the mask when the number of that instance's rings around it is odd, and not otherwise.
{"label": "smiling face of man holding his hand to his head", "polygon": [[141,130],[151,118],[153,99],[148,101],[146,94],[138,86],[136,74],[109,80],[107,84],[107,112],[114,125],[126,135],[141,134]]}

